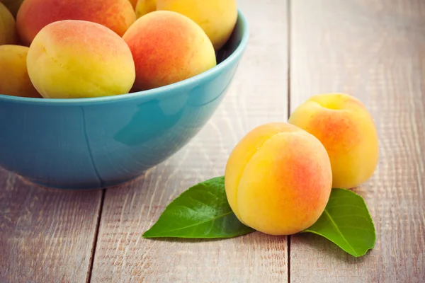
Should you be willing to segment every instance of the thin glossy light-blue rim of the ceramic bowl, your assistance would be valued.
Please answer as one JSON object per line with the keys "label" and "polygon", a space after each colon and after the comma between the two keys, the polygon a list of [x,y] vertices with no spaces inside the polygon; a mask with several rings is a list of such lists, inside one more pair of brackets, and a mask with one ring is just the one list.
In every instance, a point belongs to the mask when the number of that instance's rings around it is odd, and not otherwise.
{"label": "thin glossy light-blue rim of the ceramic bowl", "polygon": [[185,88],[190,86],[191,84],[196,83],[196,81],[204,81],[208,79],[210,76],[220,73],[223,69],[228,67],[230,64],[234,64],[235,61],[242,56],[247,42],[249,40],[249,27],[248,22],[246,21],[246,17],[240,10],[237,9],[237,21],[240,21],[240,24],[243,27],[242,39],[239,42],[237,48],[229,55],[226,59],[224,59],[219,64],[215,65],[211,69],[204,71],[201,74],[196,76],[192,76],[191,78],[185,79],[183,81],[178,81],[176,83],[171,83],[166,86],[160,86],[158,88],[152,88],[146,91],[136,91],[134,93],[124,93],[116,96],[100,96],[96,98],[27,98],[22,96],[8,96],[6,94],[0,93],[0,102],[16,102],[16,103],[35,103],[42,105],[70,105],[70,104],[92,104],[92,103],[107,103],[115,100],[131,100],[137,98],[162,98],[164,96],[171,95],[171,91],[175,91],[179,88]]}

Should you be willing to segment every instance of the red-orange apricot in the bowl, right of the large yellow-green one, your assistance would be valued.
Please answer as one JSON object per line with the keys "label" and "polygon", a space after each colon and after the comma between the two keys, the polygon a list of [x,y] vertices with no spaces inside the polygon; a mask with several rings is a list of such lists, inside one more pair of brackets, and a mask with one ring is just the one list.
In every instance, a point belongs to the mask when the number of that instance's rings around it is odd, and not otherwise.
{"label": "red-orange apricot in the bowl, right of the large yellow-green one", "polygon": [[205,32],[176,12],[154,11],[124,34],[136,66],[135,88],[143,91],[183,81],[216,65]]}

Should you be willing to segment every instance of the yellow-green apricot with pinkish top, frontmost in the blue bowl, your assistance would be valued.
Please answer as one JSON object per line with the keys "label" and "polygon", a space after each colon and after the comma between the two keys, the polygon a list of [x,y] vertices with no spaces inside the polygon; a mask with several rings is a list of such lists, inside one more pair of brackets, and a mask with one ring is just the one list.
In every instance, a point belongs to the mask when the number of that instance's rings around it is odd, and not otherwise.
{"label": "yellow-green apricot with pinkish top, frontmost in the blue bowl", "polygon": [[57,21],[35,36],[28,74],[44,98],[89,98],[128,93],[135,64],[123,38],[98,23]]}

